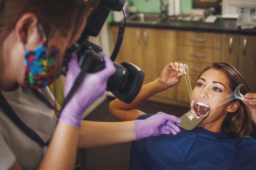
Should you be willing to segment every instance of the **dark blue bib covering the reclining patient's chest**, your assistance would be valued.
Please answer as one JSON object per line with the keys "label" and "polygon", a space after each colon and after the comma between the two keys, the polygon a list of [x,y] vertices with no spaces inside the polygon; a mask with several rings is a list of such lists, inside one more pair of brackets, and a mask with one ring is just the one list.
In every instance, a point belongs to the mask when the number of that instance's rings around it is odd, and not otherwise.
{"label": "dark blue bib covering the reclining patient's chest", "polygon": [[181,129],[177,135],[133,141],[130,169],[256,169],[256,140],[231,139],[202,127]]}

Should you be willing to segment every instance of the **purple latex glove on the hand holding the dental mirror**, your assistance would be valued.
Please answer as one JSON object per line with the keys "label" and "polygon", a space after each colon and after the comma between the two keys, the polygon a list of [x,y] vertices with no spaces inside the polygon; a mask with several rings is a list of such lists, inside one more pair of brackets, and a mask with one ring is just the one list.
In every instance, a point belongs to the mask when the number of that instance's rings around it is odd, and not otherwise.
{"label": "purple latex glove on the hand holding the dental mirror", "polygon": [[135,120],[136,141],[149,136],[170,135],[171,133],[176,135],[180,132],[180,128],[175,123],[179,125],[181,122],[180,118],[163,112],[158,112],[144,120]]}

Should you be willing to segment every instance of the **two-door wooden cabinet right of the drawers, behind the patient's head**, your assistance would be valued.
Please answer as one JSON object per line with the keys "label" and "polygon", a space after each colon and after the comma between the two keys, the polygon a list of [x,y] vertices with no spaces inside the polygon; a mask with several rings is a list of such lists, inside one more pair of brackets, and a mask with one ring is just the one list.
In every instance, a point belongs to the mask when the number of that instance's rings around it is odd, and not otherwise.
{"label": "two-door wooden cabinet right of the drawers, behind the patient's head", "polygon": [[250,91],[256,92],[256,36],[223,34],[221,61],[237,68]]}

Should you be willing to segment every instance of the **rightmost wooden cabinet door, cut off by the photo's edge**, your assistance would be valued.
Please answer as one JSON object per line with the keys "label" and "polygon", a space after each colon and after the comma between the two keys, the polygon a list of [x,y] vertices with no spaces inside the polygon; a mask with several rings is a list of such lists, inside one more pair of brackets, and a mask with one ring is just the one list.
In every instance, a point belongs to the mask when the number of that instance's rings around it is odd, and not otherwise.
{"label": "rightmost wooden cabinet door, cut off by the photo's edge", "polygon": [[252,93],[256,92],[256,36],[240,36],[239,71]]}

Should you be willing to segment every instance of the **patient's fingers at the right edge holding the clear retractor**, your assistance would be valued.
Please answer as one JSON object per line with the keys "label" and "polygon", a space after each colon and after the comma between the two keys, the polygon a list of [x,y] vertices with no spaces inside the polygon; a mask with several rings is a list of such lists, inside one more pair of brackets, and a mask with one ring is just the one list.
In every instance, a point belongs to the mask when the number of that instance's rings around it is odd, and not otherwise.
{"label": "patient's fingers at the right edge holding the clear retractor", "polygon": [[251,112],[251,118],[256,125],[256,93],[247,93],[242,100]]}

